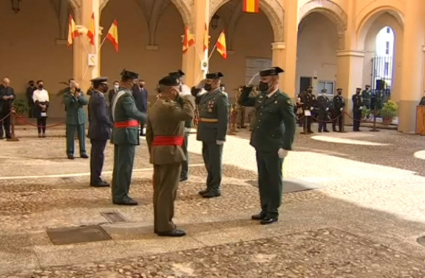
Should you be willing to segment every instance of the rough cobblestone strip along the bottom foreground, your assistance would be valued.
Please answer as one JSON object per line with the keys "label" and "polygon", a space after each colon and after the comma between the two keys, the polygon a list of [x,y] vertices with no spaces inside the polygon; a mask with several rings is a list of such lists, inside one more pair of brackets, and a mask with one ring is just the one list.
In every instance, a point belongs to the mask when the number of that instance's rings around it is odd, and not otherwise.
{"label": "rough cobblestone strip along the bottom foreground", "polygon": [[367,239],[321,229],[165,255],[51,267],[34,271],[32,277],[419,278],[425,277],[423,263]]}

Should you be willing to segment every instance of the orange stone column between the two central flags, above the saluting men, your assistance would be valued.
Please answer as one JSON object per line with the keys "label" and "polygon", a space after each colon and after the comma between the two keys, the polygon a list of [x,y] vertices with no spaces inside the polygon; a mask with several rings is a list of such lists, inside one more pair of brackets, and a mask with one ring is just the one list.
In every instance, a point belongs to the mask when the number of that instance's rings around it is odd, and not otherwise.
{"label": "orange stone column between the two central flags, above the saluting men", "polygon": [[185,83],[191,87],[205,77],[206,70],[202,70],[202,61],[207,60],[208,51],[204,53],[205,24],[209,27],[210,1],[194,1],[192,5],[192,23],[188,26],[195,38],[195,46],[192,46],[186,54],[183,54],[182,70],[186,74]]}

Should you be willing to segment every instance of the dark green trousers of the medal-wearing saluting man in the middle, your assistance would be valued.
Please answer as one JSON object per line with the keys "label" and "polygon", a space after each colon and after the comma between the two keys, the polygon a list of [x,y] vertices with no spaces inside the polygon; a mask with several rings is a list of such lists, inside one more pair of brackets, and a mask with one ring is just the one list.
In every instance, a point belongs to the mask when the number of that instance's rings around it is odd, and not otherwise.
{"label": "dark green trousers of the medal-wearing saluting man in the middle", "polygon": [[217,143],[202,142],[202,158],[207,170],[207,190],[220,190],[222,178],[221,157],[223,145]]}

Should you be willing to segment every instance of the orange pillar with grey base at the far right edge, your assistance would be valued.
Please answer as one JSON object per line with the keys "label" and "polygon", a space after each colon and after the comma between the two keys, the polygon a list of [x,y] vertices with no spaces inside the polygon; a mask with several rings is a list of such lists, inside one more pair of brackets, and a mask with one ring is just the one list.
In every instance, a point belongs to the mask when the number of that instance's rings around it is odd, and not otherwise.
{"label": "orange pillar with grey base at the far right edge", "polygon": [[416,106],[423,92],[424,78],[424,3],[423,0],[405,2],[403,60],[398,130],[415,132]]}

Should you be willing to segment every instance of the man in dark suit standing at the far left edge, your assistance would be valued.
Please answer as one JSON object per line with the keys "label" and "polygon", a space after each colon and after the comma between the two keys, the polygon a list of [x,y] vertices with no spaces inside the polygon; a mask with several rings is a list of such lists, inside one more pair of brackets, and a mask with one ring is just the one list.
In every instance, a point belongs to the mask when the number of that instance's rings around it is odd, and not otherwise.
{"label": "man in dark suit standing at the far left edge", "polygon": [[9,78],[4,78],[0,85],[0,140],[3,139],[3,128],[6,138],[11,138],[9,113],[15,97],[15,91],[10,87]]}

